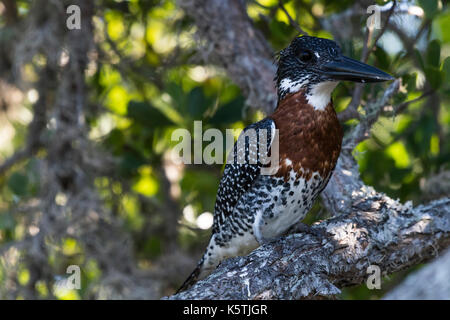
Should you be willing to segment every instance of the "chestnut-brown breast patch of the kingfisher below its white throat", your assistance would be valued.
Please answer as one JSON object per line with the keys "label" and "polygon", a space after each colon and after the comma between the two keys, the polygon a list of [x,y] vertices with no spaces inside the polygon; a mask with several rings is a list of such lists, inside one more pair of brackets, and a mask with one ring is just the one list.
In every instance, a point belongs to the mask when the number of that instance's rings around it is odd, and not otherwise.
{"label": "chestnut-brown breast patch of the kingfisher below its white throat", "polygon": [[315,110],[303,91],[290,94],[280,101],[269,117],[275,121],[279,134],[280,167],[276,176],[309,180],[314,172],[327,179],[336,166],[342,144],[342,128],[333,103]]}

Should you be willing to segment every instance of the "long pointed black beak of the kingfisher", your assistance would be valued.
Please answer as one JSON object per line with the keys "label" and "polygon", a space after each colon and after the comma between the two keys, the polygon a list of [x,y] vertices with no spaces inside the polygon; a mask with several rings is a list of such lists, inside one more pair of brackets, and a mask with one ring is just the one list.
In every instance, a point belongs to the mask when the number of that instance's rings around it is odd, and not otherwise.
{"label": "long pointed black beak of the kingfisher", "polygon": [[394,80],[394,77],[360,61],[341,56],[322,66],[321,71],[334,80],[355,82],[381,82]]}

